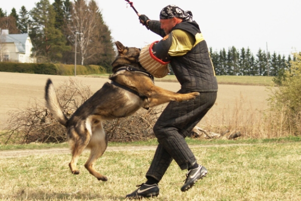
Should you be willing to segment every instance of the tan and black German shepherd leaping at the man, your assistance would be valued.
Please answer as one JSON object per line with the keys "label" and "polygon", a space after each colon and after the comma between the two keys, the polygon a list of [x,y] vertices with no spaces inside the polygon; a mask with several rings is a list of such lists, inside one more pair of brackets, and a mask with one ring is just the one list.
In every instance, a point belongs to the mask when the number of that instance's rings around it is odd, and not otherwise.
{"label": "tan and black German shepherd leaping at the man", "polygon": [[99,173],[94,164],[107,147],[107,136],[102,126],[104,120],[125,117],[140,107],[148,108],[169,101],[193,99],[199,92],[180,94],[154,85],[152,75],[143,70],[138,62],[140,49],[125,47],[115,42],[118,55],[112,63],[111,83],[106,82],[88,98],[68,119],[58,101],[54,85],[50,79],[45,86],[46,106],[53,116],[67,128],[68,142],[72,150],[69,167],[73,174],[79,174],[76,167],[78,158],[85,148],[90,148],[90,156],[85,168],[98,180],[107,177]]}

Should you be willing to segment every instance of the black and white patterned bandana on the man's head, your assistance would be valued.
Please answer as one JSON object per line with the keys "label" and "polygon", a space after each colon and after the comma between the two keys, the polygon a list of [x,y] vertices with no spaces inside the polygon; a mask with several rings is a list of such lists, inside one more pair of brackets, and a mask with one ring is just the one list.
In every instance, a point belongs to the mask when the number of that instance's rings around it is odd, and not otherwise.
{"label": "black and white patterned bandana on the man's head", "polygon": [[184,10],[174,4],[164,7],[160,12],[160,19],[170,19],[173,17],[182,18],[183,21],[193,21],[190,10],[184,12]]}

